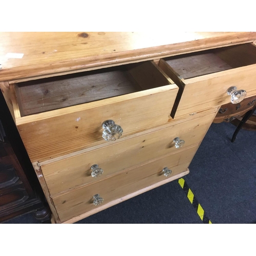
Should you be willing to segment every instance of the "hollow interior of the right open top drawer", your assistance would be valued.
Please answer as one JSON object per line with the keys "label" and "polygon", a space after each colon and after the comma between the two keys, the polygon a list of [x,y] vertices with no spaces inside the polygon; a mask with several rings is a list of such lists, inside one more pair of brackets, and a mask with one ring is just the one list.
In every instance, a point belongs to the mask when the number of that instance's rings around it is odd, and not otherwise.
{"label": "hollow interior of the right open top drawer", "polygon": [[[255,63],[256,47],[243,44],[167,57],[160,60],[159,67],[171,78],[176,73],[181,79],[188,79]],[[173,69],[172,74],[166,66]]]}

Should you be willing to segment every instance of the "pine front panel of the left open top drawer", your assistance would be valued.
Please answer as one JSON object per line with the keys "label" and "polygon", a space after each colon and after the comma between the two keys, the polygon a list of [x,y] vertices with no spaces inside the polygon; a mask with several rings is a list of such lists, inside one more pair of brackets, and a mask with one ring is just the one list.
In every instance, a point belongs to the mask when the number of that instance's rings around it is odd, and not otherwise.
{"label": "pine front panel of the left open top drawer", "polygon": [[176,85],[16,119],[32,162],[44,161],[83,148],[107,143],[102,122],[112,119],[126,137],[168,122],[177,95]]}

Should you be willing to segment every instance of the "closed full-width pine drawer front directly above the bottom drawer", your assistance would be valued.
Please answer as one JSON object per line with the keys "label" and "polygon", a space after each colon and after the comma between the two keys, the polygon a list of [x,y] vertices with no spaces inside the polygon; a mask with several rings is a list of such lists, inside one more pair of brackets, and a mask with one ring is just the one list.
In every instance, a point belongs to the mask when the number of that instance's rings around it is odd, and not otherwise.
{"label": "closed full-width pine drawer front directly above the bottom drawer", "polygon": [[[97,150],[41,165],[51,195],[96,182],[120,170],[140,165],[154,158],[179,152],[185,147],[199,144],[204,138],[216,113],[188,122],[174,124],[165,129],[118,142]],[[177,148],[173,140],[184,140]],[[98,164],[103,169],[100,177],[92,177],[91,166]]]}

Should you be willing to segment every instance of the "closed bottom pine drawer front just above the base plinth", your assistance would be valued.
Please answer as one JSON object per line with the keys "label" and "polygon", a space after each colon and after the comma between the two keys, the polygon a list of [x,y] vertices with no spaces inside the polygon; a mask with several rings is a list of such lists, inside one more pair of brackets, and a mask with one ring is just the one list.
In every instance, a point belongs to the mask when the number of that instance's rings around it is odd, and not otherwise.
{"label": "closed bottom pine drawer front just above the base plinth", "polygon": [[[139,189],[185,172],[197,149],[198,146],[194,146],[137,168],[126,170],[111,178],[53,197],[53,203],[60,222],[67,221],[91,210],[94,214],[97,212],[95,209],[101,205],[108,204]],[[164,167],[172,169],[172,173],[167,177],[164,176],[162,171]],[[93,203],[93,196],[96,194],[103,198],[103,202],[100,205],[94,205]]]}

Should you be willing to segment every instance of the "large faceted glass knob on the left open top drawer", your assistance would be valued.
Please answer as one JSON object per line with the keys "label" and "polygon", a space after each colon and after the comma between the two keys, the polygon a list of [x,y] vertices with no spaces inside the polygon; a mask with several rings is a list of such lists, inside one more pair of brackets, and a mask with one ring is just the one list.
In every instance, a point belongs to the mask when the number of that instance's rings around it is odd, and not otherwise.
{"label": "large faceted glass knob on the left open top drawer", "polygon": [[120,125],[115,124],[113,120],[106,120],[102,123],[104,129],[102,138],[106,141],[114,141],[122,136],[123,130]]}

